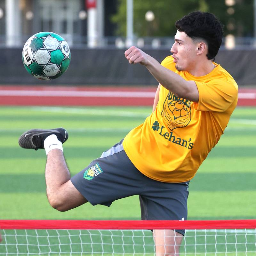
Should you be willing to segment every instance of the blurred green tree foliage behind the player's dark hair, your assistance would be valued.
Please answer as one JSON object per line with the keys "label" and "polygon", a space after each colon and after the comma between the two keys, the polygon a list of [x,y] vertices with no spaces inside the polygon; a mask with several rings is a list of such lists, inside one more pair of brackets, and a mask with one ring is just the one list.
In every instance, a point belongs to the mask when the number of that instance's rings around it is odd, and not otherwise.
{"label": "blurred green tree foliage behind the player's dark hair", "polygon": [[[189,12],[200,10],[214,13],[224,24],[225,34],[253,36],[253,1],[235,0],[227,6],[225,0],[134,0],[133,20],[136,36],[174,36],[175,21]],[[116,35],[126,35],[126,1],[118,0],[117,13],[111,17],[116,24]],[[152,11],[154,20],[145,14]]]}

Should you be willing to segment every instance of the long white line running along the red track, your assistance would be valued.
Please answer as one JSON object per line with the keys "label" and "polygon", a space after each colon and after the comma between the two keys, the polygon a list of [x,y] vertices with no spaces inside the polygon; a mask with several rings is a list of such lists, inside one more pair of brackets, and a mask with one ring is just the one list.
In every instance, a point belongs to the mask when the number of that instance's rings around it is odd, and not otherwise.
{"label": "long white line running along the red track", "polygon": [[[155,92],[0,90],[0,96],[154,98]],[[256,99],[256,92],[239,92],[238,99]]]}

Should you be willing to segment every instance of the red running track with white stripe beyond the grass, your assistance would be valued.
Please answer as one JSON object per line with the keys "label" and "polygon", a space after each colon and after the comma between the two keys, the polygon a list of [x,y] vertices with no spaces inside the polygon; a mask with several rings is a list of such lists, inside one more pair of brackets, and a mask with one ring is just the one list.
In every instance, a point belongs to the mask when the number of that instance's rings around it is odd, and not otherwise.
{"label": "red running track with white stripe beyond the grass", "polygon": [[[156,87],[0,86],[1,106],[152,106]],[[238,91],[238,106],[256,106],[256,88]]]}

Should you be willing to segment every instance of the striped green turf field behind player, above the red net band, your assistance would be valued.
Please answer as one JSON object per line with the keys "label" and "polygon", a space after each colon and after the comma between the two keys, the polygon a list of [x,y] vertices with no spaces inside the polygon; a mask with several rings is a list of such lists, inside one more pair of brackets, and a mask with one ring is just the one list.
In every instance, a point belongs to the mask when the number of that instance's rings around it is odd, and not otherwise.
{"label": "striped green turf field behind player, above the red net band", "polygon": [[[18,145],[31,128],[68,130],[64,153],[71,175],[143,122],[151,108],[0,108],[1,219],[140,219],[138,196],[111,207],[89,203],[68,212],[50,207],[45,195],[45,152]],[[189,184],[188,219],[255,219],[256,108],[236,108],[224,135]],[[238,255],[238,254],[237,254]]]}

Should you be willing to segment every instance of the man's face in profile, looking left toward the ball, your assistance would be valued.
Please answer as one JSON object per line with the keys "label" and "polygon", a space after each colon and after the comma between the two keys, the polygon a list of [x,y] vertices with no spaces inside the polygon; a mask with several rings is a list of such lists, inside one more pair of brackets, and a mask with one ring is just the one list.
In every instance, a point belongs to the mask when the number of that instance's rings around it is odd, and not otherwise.
{"label": "man's face in profile, looking left toward the ball", "polygon": [[177,30],[171,52],[175,68],[178,71],[190,71],[197,60],[197,44],[185,32]]}

